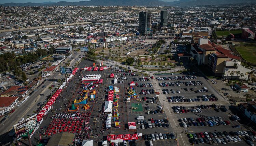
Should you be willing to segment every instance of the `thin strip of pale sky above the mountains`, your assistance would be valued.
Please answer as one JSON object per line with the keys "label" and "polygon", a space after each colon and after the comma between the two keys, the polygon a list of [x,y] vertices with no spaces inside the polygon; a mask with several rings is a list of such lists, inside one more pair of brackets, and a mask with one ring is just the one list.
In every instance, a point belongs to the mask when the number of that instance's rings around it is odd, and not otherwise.
{"label": "thin strip of pale sky above the mountains", "polygon": [[[9,2],[14,2],[14,3],[26,3],[26,2],[36,2],[36,3],[41,3],[41,2],[58,2],[58,1],[67,1],[67,2],[74,2],[74,1],[85,1],[85,0],[0,0],[0,3],[9,3]],[[88,1],[88,0],[87,0]],[[162,1],[175,1],[175,0],[162,0]]]}

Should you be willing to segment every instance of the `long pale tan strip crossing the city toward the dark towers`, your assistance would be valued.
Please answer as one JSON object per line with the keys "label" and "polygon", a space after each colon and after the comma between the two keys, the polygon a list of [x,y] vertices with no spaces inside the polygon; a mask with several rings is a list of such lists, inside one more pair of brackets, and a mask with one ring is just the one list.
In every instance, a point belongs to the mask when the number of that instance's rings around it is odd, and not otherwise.
{"label": "long pale tan strip crossing the city toward the dark towers", "polygon": [[[138,17],[133,17],[133,18],[126,18],[128,20],[130,19],[137,19]],[[116,21],[116,20],[120,20],[120,19],[112,19],[109,21]],[[103,20],[101,21],[97,21],[97,22],[103,22]],[[83,25],[83,24],[89,24],[92,22],[80,22],[80,23],[69,23],[69,24],[57,24],[57,25],[46,25],[46,26],[37,26],[37,27],[28,27],[28,28],[17,28],[17,29],[8,29],[8,30],[0,30],[1,32],[11,32],[11,31],[17,31],[17,30],[32,30],[32,29],[42,29],[42,28],[54,28],[54,27],[58,27],[58,26],[70,26],[70,25]]]}

